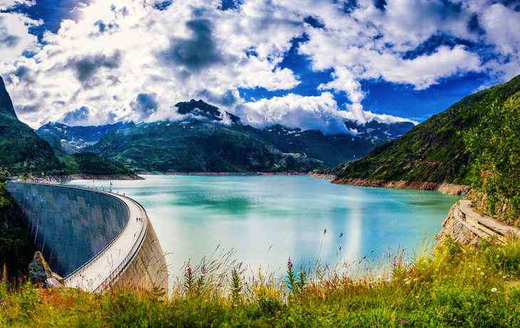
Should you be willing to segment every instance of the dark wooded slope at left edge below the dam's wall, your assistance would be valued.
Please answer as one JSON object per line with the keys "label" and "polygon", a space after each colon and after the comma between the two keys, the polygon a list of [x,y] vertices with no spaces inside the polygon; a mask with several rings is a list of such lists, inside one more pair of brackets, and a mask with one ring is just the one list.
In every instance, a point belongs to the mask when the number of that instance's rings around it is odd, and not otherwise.
{"label": "dark wooded slope at left edge below the dam's wall", "polygon": [[25,276],[36,248],[31,242],[24,216],[16,201],[0,183],[0,267],[4,264],[8,277]]}

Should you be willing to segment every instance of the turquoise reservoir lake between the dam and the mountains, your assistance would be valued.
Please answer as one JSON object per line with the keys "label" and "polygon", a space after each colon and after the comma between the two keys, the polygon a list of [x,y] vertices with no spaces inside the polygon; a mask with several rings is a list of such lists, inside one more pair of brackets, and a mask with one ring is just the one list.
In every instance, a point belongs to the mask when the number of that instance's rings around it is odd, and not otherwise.
{"label": "turquoise reservoir lake between the dam and the mountains", "polygon": [[[269,270],[284,270],[288,257],[298,264],[316,260],[320,247],[321,261],[329,264],[378,258],[399,245],[412,252],[422,238],[441,230],[449,208],[461,199],[437,191],[333,185],[306,175],[142,177],[113,180],[113,193],[145,207],[162,249],[170,253],[170,275],[179,275],[188,260],[196,265],[211,257],[217,246],[217,253],[234,250],[238,262]],[[110,181],[66,185],[107,190]]]}

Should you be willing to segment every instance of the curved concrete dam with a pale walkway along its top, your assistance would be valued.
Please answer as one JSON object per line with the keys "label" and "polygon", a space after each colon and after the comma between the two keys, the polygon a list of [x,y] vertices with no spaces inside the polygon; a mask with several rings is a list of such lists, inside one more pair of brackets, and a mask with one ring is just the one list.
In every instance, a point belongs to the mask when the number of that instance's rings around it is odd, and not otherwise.
{"label": "curved concrete dam with a pale walkway along its top", "polygon": [[69,287],[100,292],[133,282],[167,291],[162,247],[135,200],[41,183],[8,182],[6,190],[21,207],[34,245]]}

